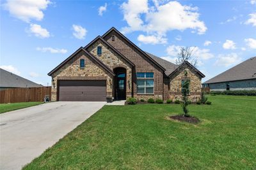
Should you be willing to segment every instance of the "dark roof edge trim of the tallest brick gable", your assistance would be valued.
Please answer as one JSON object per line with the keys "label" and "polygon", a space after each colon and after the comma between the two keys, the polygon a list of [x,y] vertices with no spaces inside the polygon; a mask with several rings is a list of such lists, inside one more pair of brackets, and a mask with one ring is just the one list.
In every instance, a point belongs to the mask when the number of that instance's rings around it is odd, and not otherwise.
{"label": "dark roof edge trim of the tallest brick gable", "polygon": [[149,60],[151,60],[154,64],[156,64],[156,66],[158,66],[159,68],[161,68],[163,71],[166,71],[166,69],[161,66],[161,64],[159,64],[158,62],[156,62],[156,60],[152,59],[150,56],[148,56],[147,53],[145,53],[143,50],[141,50],[138,46],[136,46],[134,43],[132,43],[132,41],[130,41],[128,38],[126,38],[121,32],[119,32],[117,29],[115,29],[115,27],[111,27],[111,29],[109,29],[109,31],[107,31],[105,34],[103,34],[102,38],[106,37],[109,32],[111,31],[115,31],[119,36],[121,36],[122,38],[124,38],[128,43],[130,43],[134,48],[136,48],[136,50],[138,50],[139,52],[141,52],[143,55],[145,55],[145,57],[147,57]]}

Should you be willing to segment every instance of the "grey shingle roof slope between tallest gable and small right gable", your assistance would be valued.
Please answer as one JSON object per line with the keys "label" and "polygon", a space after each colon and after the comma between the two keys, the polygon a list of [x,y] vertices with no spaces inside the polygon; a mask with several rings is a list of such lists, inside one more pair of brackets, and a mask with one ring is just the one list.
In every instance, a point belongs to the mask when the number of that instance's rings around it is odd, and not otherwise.
{"label": "grey shingle roof slope between tallest gable and small right gable", "polygon": [[166,71],[164,71],[164,73],[168,76],[170,75],[173,71],[175,71],[175,69],[177,69],[177,67],[179,67],[176,64],[173,64],[172,62],[169,62],[167,60],[161,59],[160,57],[157,57],[156,55],[153,55],[152,53],[147,53],[147,55],[149,57],[151,57],[153,60],[155,60],[158,64],[160,64],[162,67],[164,67],[164,69],[166,69]]}

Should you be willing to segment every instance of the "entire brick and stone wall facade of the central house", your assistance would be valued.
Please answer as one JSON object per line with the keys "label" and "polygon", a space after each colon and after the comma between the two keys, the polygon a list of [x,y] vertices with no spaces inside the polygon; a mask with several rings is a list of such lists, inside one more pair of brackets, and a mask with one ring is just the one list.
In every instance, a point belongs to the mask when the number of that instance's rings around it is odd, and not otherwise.
{"label": "entire brick and stone wall facade of the central house", "polygon": [[[115,40],[113,41],[113,36]],[[110,45],[109,45],[110,44]],[[97,46],[102,47],[102,54],[97,55]],[[115,31],[110,31],[103,36],[103,39],[95,39],[86,48],[86,52],[97,58],[104,66],[111,71],[122,67],[126,70],[126,97],[136,97],[137,99],[160,98],[180,99],[181,98],[181,81],[184,78],[184,70],[180,70],[168,77],[164,73],[163,67],[157,65],[156,61],[141,52],[136,46],[132,45],[129,40]],[[79,60],[85,59],[85,67],[79,67]],[[196,73],[191,67],[186,67],[188,77],[191,80],[191,101],[200,99],[202,75]],[[154,73],[154,94],[137,94],[136,73]],[[106,80],[108,97],[115,95],[115,76],[108,73],[106,68],[90,59],[88,53],[83,51],[77,53],[68,62],[62,66],[56,67],[51,74],[52,76],[52,101],[56,101],[58,96],[59,80]]]}

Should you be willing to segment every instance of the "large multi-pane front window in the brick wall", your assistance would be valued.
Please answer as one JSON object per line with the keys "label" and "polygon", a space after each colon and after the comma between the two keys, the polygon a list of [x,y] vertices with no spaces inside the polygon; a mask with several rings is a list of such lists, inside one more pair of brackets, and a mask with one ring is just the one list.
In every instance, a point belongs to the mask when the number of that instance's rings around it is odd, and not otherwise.
{"label": "large multi-pane front window in the brick wall", "polygon": [[137,93],[154,94],[154,73],[137,73]]}

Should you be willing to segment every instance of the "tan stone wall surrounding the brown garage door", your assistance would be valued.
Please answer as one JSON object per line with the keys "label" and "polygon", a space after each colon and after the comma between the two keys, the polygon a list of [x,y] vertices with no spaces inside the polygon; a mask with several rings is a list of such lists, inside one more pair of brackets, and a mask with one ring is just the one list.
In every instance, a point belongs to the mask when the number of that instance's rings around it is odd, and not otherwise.
{"label": "tan stone wall surrounding the brown garage door", "polygon": [[[85,60],[85,67],[80,68],[80,59]],[[80,77],[80,78],[78,78]],[[112,97],[113,75],[105,71],[99,64],[90,59],[83,51],[77,53],[64,66],[52,74],[52,101],[57,100],[58,80],[106,80],[106,94]],[[104,78],[102,78],[104,77]]]}

